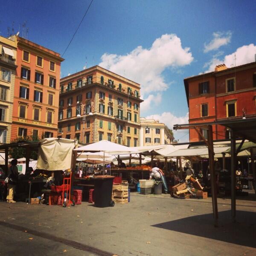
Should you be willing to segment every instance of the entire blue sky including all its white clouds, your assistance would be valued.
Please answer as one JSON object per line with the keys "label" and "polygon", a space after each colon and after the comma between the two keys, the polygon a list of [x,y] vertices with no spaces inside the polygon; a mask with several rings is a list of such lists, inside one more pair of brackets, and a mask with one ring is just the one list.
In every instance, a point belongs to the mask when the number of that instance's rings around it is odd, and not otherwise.
{"label": "entire blue sky including all its white clouds", "polygon": [[[28,39],[63,54],[90,0],[9,0],[0,35],[26,21]],[[254,1],[93,0],[63,56],[61,76],[101,64],[141,84],[141,116],[188,121],[184,77],[254,61]],[[175,134],[188,140],[188,131]]]}

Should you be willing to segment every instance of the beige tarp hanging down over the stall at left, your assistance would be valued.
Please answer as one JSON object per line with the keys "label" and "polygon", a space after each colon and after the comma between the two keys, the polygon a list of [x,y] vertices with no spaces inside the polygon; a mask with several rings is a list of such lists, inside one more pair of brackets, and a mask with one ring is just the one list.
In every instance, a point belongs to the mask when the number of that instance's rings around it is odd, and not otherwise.
{"label": "beige tarp hanging down over the stall at left", "polygon": [[72,151],[76,140],[47,138],[40,140],[37,169],[47,171],[67,170],[72,166]]}

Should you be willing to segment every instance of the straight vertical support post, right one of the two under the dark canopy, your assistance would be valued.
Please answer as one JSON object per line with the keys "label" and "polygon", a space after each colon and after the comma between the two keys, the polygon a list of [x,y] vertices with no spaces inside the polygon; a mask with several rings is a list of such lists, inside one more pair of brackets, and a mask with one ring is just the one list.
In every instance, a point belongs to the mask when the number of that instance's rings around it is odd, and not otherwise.
{"label": "straight vertical support post, right one of the two under the dark canopy", "polygon": [[231,136],[231,215],[236,222],[236,134],[230,130]]}

